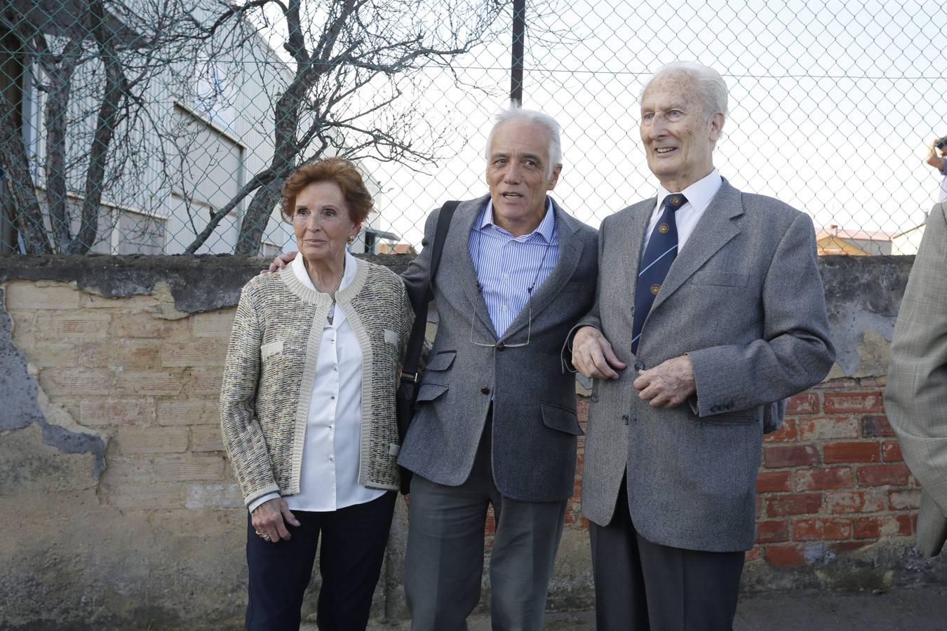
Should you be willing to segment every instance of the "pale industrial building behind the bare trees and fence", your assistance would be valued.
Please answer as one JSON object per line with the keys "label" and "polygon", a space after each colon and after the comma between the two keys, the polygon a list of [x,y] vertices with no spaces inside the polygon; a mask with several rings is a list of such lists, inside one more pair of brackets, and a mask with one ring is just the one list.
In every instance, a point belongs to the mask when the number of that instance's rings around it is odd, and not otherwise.
{"label": "pale industrial building behind the bare trees and fence", "polygon": [[[134,9],[144,1],[129,0],[129,6]],[[48,177],[44,168],[44,112],[48,96],[38,83],[42,84],[46,76],[44,68],[33,61],[35,55],[25,51],[36,44],[37,38],[45,39],[51,47],[62,42],[77,19],[68,11],[58,10],[66,5],[24,0],[14,11],[0,14],[0,29],[6,31],[0,37],[0,91],[19,114],[17,125],[30,156],[32,184],[44,212],[48,207]],[[36,37],[30,42],[20,41],[14,35],[11,20],[30,25]],[[119,33],[129,30],[120,16],[109,15],[109,24]],[[133,36],[134,33],[128,35]],[[142,126],[134,145],[121,149],[114,159],[114,164],[124,159],[125,165],[118,169],[110,167],[118,175],[104,182],[98,234],[91,252],[183,253],[207,221],[271,162],[272,102],[293,80],[293,72],[259,36],[241,40],[239,46],[223,44],[211,42],[207,44],[208,50],[217,48],[212,57],[171,63],[152,79],[141,99],[144,114],[139,116],[150,124]],[[82,151],[88,146],[80,134],[88,136],[88,113],[97,107],[96,70],[94,63],[80,65],[72,79],[77,96],[69,105],[75,122],[66,131],[66,165],[81,165]],[[12,207],[2,167],[0,254],[7,254],[22,251],[23,244],[17,240],[12,218],[18,210]],[[79,229],[84,175],[81,168],[72,168],[66,174],[66,205],[72,214],[73,234]],[[370,174],[365,175],[369,192],[377,197],[381,186]],[[217,225],[198,249],[199,254],[234,251],[243,213],[251,198],[252,194],[243,198]],[[366,230],[353,244],[352,252],[377,252],[379,243],[400,240],[396,235],[369,227],[379,223],[380,211],[375,209],[366,219]],[[269,256],[287,249],[295,250],[293,229],[274,209],[259,254]]]}

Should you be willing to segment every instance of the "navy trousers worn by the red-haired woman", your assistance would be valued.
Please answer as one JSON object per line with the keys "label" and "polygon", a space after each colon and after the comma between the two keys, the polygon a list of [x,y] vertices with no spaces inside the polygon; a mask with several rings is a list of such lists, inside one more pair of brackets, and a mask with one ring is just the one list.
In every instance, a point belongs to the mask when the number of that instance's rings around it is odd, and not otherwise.
{"label": "navy trousers worn by the red-haired woman", "polygon": [[247,518],[246,562],[250,599],[248,631],[299,630],[303,594],[313,576],[322,536],[316,626],[323,631],[363,631],[388,541],[395,492],[337,511],[294,511],[299,526],[286,524],[292,538],[263,541]]}

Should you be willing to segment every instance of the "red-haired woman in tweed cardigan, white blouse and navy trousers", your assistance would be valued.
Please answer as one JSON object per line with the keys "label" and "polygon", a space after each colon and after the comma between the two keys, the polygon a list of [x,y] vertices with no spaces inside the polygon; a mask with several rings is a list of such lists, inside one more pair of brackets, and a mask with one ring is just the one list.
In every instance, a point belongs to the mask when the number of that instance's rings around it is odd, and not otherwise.
{"label": "red-haired woman in tweed cardigan, white blouse and navy trousers", "polygon": [[282,214],[301,256],[243,288],[221,392],[250,511],[247,629],[299,628],[322,537],[316,623],[364,629],[399,485],[395,387],[414,319],[401,279],[356,260],[371,196],[356,167],[300,167]]}

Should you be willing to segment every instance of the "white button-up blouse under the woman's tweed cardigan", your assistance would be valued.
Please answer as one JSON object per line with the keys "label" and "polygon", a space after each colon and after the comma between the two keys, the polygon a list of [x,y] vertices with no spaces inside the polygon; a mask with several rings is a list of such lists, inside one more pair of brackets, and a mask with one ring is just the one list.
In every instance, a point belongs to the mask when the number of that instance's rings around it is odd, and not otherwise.
{"label": "white button-up blouse under the woman's tweed cardigan", "polygon": [[[346,252],[346,271],[339,290],[351,284],[357,265],[355,257]],[[301,255],[293,259],[292,269],[299,282],[316,290]],[[334,511],[375,500],[385,493],[358,483],[362,348],[345,311],[338,305],[332,324],[323,324],[299,471],[299,493],[286,498],[294,511]],[[278,497],[277,493],[263,496],[250,504],[250,511]]]}

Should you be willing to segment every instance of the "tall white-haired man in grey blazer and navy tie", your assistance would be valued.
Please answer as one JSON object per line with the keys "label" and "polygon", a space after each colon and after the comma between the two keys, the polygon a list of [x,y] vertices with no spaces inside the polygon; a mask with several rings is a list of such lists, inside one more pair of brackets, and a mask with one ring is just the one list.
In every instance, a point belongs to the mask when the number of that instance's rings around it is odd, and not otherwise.
{"label": "tall white-haired man in grey blazer and navy tie", "polygon": [[582,512],[599,631],[731,628],[764,424],[834,357],[812,220],[721,178],[725,116],[716,71],[660,69],[640,129],[657,196],[599,231],[571,355],[596,379]]}

